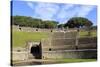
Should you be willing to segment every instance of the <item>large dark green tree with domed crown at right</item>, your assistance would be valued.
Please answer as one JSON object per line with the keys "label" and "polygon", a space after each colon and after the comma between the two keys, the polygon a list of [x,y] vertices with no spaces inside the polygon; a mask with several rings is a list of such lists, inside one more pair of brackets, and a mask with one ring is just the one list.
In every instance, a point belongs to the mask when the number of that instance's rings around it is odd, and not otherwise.
{"label": "large dark green tree with domed crown at right", "polygon": [[92,22],[88,20],[87,18],[83,17],[73,17],[68,20],[67,23],[65,23],[65,27],[68,26],[69,28],[80,28],[80,27],[90,27],[92,26]]}

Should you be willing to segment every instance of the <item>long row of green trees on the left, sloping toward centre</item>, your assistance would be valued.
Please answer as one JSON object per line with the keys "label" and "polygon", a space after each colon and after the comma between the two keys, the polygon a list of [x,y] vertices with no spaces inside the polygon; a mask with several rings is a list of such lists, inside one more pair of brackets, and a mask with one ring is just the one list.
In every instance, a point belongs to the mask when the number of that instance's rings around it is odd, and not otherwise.
{"label": "long row of green trees on the left, sloping toward centre", "polygon": [[56,28],[58,22],[56,21],[43,21],[41,19],[26,17],[26,16],[11,16],[12,24],[34,28]]}

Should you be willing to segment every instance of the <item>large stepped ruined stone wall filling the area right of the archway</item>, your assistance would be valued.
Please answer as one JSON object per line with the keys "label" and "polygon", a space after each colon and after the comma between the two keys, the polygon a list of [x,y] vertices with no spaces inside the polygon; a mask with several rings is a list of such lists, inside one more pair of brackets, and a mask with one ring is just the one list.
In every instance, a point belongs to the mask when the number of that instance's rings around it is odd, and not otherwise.
{"label": "large stepped ruined stone wall filling the area right of the archway", "polygon": [[97,38],[77,38],[77,32],[55,32],[41,44],[43,59],[97,58]]}

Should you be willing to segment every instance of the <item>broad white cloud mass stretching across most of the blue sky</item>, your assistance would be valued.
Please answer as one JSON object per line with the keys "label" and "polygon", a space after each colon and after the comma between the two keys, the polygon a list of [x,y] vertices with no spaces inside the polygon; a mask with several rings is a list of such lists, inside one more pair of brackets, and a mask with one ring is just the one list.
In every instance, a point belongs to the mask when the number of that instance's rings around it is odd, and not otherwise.
{"label": "broad white cloud mass stretching across most of the blue sky", "polygon": [[27,5],[31,9],[34,9],[33,17],[38,17],[43,20],[58,19],[60,22],[65,22],[74,16],[86,17],[90,11],[94,9],[94,6],[43,2],[38,2],[36,4],[33,2],[27,2]]}

